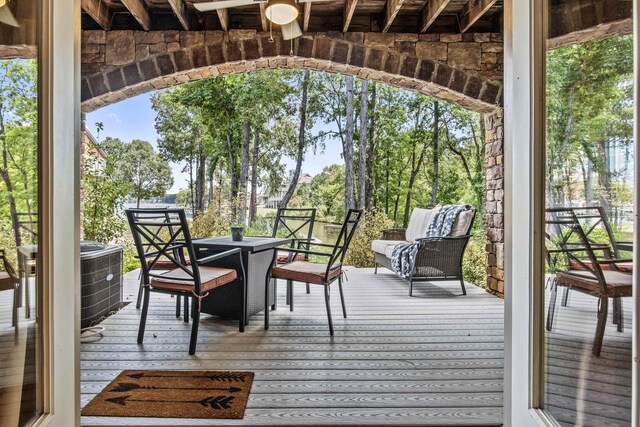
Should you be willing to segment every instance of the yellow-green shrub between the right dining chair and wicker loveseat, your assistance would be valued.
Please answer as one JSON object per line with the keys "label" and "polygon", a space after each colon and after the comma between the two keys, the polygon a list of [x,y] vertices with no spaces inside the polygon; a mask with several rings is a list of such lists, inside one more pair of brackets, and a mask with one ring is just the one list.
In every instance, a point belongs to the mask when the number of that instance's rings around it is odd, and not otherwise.
{"label": "yellow-green shrub between the right dining chair and wicker loveseat", "polygon": [[380,210],[370,210],[365,213],[345,257],[345,264],[354,267],[373,267],[373,251],[371,241],[380,239],[382,230],[393,227],[393,221]]}

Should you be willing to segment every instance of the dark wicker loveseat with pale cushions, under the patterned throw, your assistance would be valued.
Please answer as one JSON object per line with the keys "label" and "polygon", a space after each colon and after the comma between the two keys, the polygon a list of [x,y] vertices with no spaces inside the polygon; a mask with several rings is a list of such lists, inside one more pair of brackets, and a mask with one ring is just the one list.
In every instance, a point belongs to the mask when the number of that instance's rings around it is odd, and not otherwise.
{"label": "dark wicker loveseat with pale cushions, under the patterned throw", "polygon": [[[393,250],[400,243],[417,242],[419,249],[413,265],[410,267],[409,295],[413,294],[414,281],[459,280],[463,295],[467,294],[462,276],[462,258],[471,237],[476,211],[473,208],[458,214],[451,233],[445,237],[425,237],[436,209],[416,208],[406,229],[388,229],[382,231],[382,238],[371,242],[374,252],[375,273],[378,266],[391,268]],[[398,275],[398,277],[402,277]]]}

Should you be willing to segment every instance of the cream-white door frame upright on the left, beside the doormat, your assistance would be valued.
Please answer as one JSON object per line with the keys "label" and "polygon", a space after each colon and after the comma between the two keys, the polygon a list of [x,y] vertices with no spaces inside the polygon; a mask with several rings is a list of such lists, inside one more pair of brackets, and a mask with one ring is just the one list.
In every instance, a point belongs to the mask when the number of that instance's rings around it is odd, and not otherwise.
{"label": "cream-white door frame upright on the left, beside the doormat", "polygon": [[39,60],[44,415],[80,425],[80,1],[43,1]]}

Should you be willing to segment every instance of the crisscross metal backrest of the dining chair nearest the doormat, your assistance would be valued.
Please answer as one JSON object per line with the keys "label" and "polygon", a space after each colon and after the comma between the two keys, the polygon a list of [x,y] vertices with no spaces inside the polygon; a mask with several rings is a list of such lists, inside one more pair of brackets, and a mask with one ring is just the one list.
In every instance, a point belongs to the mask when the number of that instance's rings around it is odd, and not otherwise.
{"label": "crisscross metal backrest of the dining chair nearest the doormat", "polygon": [[[188,265],[184,255],[186,251],[189,259],[196,259],[184,209],[127,209],[126,214],[144,282],[149,284],[151,277],[191,281],[194,284],[194,292],[200,295],[200,271],[195,262]],[[171,261],[184,271],[187,277],[153,273],[153,267],[160,259]]]}

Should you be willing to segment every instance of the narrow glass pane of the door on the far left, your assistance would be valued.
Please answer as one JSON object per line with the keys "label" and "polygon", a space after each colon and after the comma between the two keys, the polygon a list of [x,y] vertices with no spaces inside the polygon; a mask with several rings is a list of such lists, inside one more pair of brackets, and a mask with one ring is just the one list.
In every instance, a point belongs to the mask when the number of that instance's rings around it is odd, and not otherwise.
{"label": "narrow glass pane of the door on the far left", "polygon": [[42,414],[39,2],[0,2],[0,425]]}

